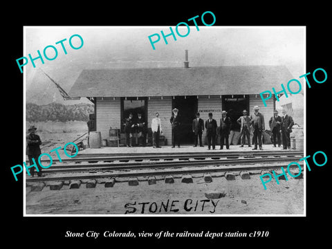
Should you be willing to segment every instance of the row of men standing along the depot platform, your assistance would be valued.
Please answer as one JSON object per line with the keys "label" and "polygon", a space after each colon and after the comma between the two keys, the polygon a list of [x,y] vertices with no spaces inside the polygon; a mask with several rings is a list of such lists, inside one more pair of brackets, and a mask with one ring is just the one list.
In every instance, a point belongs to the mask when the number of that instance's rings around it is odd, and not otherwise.
{"label": "row of men standing along the depot platform", "polygon": [[[290,133],[292,132],[291,128],[293,127],[293,118],[286,114],[286,111],[283,110],[283,117],[278,116],[278,111],[275,110],[274,116],[270,118],[269,125],[272,132],[271,140],[273,140],[273,145],[276,147],[278,143],[279,147],[281,145],[280,133],[282,133],[283,140],[283,149],[291,148],[291,139]],[[192,132],[194,133],[194,147],[197,147],[198,144],[200,147],[203,147],[202,134],[206,130],[206,136],[208,138],[208,149],[215,149],[216,147],[216,137],[219,135],[220,138],[220,149],[223,149],[225,145],[226,149],[230,149],[229,144],[229,134],[230,129],[232,128],[232,120],[227,116],[226,111],[221,112],[221,119],[219,122],[219,127],[214,120],[213,114],[209,113],[208,120],[200,118],[200,113],[196,113],[196,118],[192,120]],[[178,115],[178,109],[172,110],[172,116],[169,119],[172,125],[172,147],[180,147],[181,145],[181,116]],[[241,146],[243,147],[246,140],[248,141],[248,147],[250,145],[250,130],[253,129],[252,143],[254,144],[255,149],[263,149],[262,147],[262,133],[265,130],[264,115],[259,112],[259,107],[254,107],[254,113],[248,116],[248,112],[243,110],[243,116],[237,119],[237,123],[240,125],[240,134],[241,134]],[[163,134],[161,127],[161,121],[159,118],[159,113],[155,113],[155,118],[151,121],[151,131],[153,137],[153,146],[154,148],[160,148],[159,138],[160,134]],[[129,118],[126,119],[124,124],[124,133],[126,133],[126,145],[127,147],[132,147],[137,138],[139,146],[145,146],[146,144],[146,134],[147,134],[147,124],[142,119],[141,113],[138,113],[138,118],[133,120],[132,113],[129,114]]]}

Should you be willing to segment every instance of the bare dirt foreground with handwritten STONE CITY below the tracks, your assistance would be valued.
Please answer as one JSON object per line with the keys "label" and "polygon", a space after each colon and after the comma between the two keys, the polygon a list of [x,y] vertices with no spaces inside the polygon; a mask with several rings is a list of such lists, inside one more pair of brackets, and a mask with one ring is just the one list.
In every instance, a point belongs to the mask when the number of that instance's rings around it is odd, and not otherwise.
{"label": "bare dirt foreground with handwritten STONE CITY below the tracks", "polygon": [[[82,184],[75,190],[46,186],[42,192],[26,187],[26,214],[304,214],[303,179],[280,180],[279,185],[270,181],[267,190],[259,174],[250,180],[218,177],[212,183],[203,183],[202,178],[194,178],[194,183],[174,180],[168,184],[160,180],[156,185],[141,181],[138,186],[97,184],[95,188]],[[224,192],[225,196],[210,200],[206,192]]]}

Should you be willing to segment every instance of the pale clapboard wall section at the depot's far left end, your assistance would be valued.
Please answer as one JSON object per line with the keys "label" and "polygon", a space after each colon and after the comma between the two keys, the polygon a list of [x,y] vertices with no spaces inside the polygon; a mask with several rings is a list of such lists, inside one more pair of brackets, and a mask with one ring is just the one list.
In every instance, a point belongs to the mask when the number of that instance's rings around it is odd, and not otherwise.
{"label": "pale clapboard wall section at the depot's far left end", "polygon": [[102,133],[102,139],[107,139],[109,138],[109,127],[112,129],[121,127],[120,98],[116,98],[116,100],[97,98],[96,103],[97,131]]}

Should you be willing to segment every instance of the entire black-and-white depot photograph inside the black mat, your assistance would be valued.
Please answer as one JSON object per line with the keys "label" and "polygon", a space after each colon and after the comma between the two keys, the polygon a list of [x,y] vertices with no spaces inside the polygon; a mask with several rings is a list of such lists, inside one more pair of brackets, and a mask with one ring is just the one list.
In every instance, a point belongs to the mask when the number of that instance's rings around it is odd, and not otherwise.
{"label": "entire black-and-white depot photograph inside the black mat", "polygon": [[24,26],[20,59],[24,216],[306,215],[305,26]]}

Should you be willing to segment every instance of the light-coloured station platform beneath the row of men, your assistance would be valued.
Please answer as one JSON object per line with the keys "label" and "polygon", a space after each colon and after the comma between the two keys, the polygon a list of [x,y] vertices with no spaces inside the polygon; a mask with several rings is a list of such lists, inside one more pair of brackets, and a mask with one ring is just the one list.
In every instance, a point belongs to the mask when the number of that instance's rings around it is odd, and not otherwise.
{"label": "light-coloured station platform beneath the row of men", "polygon": [[216,149],[208,150],[208,145],[204,147],[193,147],[193,145],[183,145],[180,148],[172,146],[163,146],[161,148],[154,148],[154,147],[100,147],[98,149],[83,149],[79,151],[77,154],[77,158],[84,157],[84,156],[117,156],[117,155],[136,155],[136,154],[194,154],[194,153],[216,153],[216,154],[228,154],[234,152],[246,152],[252,151],[303,151],[303,148],[296,148],[296,149],[282,149],[281,147],[273,147],[273,145],[263,145],[263,150],[252,150],[254,147],[248,147],[248,145],[244,145],[244,147],[240,147],[240,145],[230,145],[230,149],[219,149],[220,145],[216,145]]}

